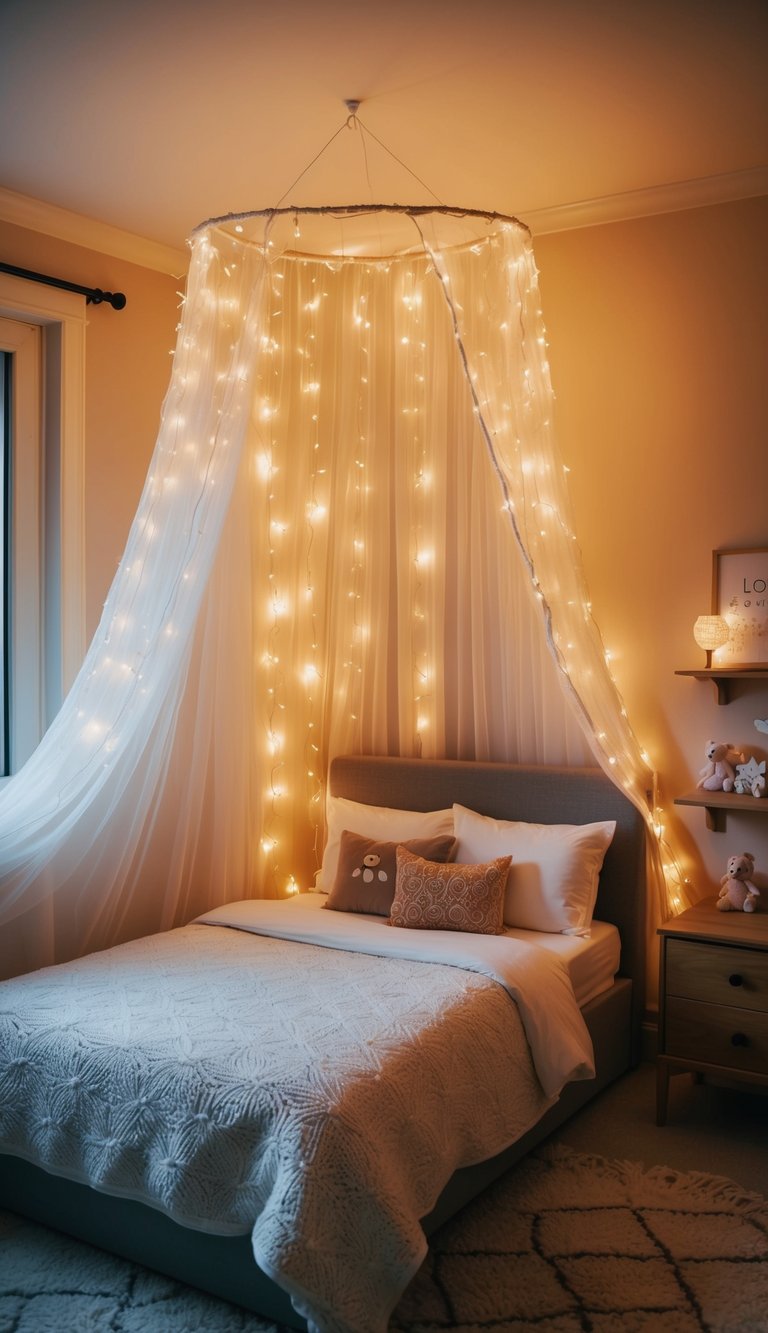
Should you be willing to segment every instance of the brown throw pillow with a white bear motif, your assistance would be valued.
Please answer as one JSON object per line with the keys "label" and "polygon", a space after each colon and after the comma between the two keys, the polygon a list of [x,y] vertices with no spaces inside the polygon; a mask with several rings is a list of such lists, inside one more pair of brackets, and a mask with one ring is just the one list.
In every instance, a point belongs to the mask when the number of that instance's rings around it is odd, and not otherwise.
{"label": "brown throw pillow with a white bear motif", "polygon": [[[333,912],[371,912],[389,916],[397,876],[397,842],[380,842],[344,829],[339,842],[339,864],[333,888],[325,902]],[[431,861],[456,856],[456,838],[413,837],[401,844]]]}

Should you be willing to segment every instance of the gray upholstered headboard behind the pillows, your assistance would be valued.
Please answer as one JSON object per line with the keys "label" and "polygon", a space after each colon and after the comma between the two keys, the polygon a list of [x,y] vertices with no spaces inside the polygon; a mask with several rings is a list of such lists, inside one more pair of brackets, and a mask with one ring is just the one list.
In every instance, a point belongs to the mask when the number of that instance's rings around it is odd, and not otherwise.
{"label": "gray upholstered headboard behind the pillows", "polygon": [[343,754],[331,762],[329,789],[332,796],[396,809],[436,810],[456,801],[493,818],[529,824],[616,820],[595,914],[619,928],[621,974],[632,977],[640,1021],[645,989],[645,822],[600,769]]}

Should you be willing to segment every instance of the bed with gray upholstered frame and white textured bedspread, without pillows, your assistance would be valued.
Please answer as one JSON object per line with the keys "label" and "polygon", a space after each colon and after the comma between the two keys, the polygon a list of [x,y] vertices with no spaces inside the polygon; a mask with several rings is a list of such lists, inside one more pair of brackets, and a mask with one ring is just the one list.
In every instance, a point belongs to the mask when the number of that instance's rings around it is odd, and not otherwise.
{"label": "bed with gray upholstered frame and white textured bedspread, without pillows", "polygon": [[[288,1328],[380,1333],[425,1237],[637,1061],[645,825],[595,769],[343,756],[329,798],[337,818],[352,804],[464,812],[491,849],[508,821],[541,829],[547,845],[560,826],[609,821],[595,925],[548,937],[516,926],[397,930],[381,916],[324,910],[328,900],[307,893],[217,909],[92,956],[80,972],[65,965],[5,982],[0,1205]],[[557,1004],[536,993],[540,965]],[[275,969],[295,985],[268,1028],[264,988]],[[79,1026],[84,973],[101,997],[95,1044],[116,1089],[109,1124],[97,1114],[104,1098],[88,1102],[92,1076],[75,1058],[91,1021]],[[40,985],[59,990],[40,998]],[[245,1094],[245,1122],[243,1088],[268,1057],[268,1093]],[[136,1084],[148,1064],[155,1088]],[[115,1106],[123,1116],[131,1106],[136,1124],[151,1117],[171,1065],[185,1088],[183,1133],[176,1116],[176,1137],[155,1136],[145,1170],[133,1122],[128,1133]],[[19,1094],[36,1077],[47,1081],[45,1114],[32,1093],[33,1113]],[[71,1142],[73,1098],[87,1148]],[[215,1150],[211,1120],[223,1134]],[[73,1165],[85,1160],[87,1174]]]}

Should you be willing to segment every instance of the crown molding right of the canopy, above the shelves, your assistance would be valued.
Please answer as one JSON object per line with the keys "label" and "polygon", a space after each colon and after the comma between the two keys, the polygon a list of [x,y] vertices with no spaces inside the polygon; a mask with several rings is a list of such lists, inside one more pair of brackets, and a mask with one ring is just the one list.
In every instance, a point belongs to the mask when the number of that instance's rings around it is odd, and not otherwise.
{"label": "crown molding right of the canopy, above the shelves", "polygon": [[621,195],[603,199],[584,199],[555,208],[535,208],[520,213],[533,236],[549,232],[569,232],[580,227],[599,227],[603,223],[625,223],[656,213],[679,213],[685,208],[704,208],[709,204],[729,204],[737,199],[768,195],[768,167],[703,176],[699,180],[680,180],[671,185],[651,185],[647,189],[628,189]]}

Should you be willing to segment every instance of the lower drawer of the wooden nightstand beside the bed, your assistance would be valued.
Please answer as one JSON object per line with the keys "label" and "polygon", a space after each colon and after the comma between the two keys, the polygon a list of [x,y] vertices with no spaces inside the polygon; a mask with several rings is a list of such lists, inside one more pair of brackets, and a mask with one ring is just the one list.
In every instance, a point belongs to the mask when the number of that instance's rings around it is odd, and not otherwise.
{"label": "lower drawer of the wooden nightstand beside the bed", "polygon": [[671,996],[664,1054],[764,1074],[768,1072],[768,1013]]}

